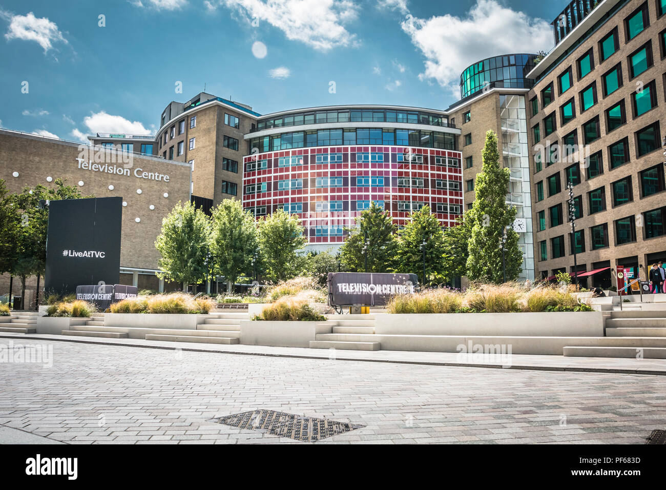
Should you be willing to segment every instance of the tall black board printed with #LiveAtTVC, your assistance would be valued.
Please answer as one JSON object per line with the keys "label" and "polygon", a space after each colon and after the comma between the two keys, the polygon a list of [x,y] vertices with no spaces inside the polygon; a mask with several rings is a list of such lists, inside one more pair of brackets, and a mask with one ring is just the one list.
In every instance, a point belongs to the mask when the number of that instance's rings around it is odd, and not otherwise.
{"label": "tall black board printed with #LiveAtTVC", "polygon": [[63,199],[49,203],[47,294],[74,293],[82,284],[120,280],[123,198]]}

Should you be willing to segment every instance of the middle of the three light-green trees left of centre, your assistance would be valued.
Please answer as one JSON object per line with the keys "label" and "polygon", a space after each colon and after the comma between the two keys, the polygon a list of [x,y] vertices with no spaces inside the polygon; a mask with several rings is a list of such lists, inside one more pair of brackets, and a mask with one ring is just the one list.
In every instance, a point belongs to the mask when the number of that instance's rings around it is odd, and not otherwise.
{"label": "middle of the three light-green trees left of centre", "polygon": [[226,278],[228,293],[240,275],[250,273],[257,247],[254,217],[243,211],[240,201],[224,199],[212,213],[210,251],[216,272]]}

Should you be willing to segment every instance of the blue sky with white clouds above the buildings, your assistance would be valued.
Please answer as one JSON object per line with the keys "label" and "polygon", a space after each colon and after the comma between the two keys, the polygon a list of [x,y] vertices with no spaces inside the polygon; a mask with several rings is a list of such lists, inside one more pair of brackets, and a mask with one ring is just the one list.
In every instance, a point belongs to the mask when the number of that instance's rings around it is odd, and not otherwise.
{"label": "blue sky with white clouds above the buildings", "polygon": [[446,109],[481,59],[553,47],[566,0],[0,0],[0,127],[154,134],[205,91],[267,114]]}

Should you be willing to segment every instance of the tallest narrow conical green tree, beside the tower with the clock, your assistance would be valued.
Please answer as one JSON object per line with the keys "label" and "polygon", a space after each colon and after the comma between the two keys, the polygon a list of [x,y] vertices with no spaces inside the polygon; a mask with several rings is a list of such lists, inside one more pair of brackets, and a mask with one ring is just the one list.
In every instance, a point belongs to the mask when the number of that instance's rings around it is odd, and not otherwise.
{"label": "tallest narrow conical green tree, beside the tower with the clock", "polygon": [[472,235],[467,272],[472,281],[503,281],[501,243],[504,232],[506,280],[516,279],[521,272],[523,255],[518,247],[518,234],[511,227],[516,209],[506,204],[508,186],[509,169],[500,168],[497,135],[488,131],[481,173],[476,177],[476,200],[470,210]]}

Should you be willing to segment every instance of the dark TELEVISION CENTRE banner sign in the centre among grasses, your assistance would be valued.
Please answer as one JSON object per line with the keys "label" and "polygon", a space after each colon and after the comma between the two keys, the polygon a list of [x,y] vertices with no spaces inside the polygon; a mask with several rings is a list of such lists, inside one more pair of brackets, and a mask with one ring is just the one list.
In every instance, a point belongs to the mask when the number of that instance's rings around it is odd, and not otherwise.
{"label": "dark TELEVISION CENTRE banner sign in the centre among grasses", "polygon": [[386,305],[397,294],[414,293],[416,274],[364,272],[328,273],[328,304],[331,306]]}

